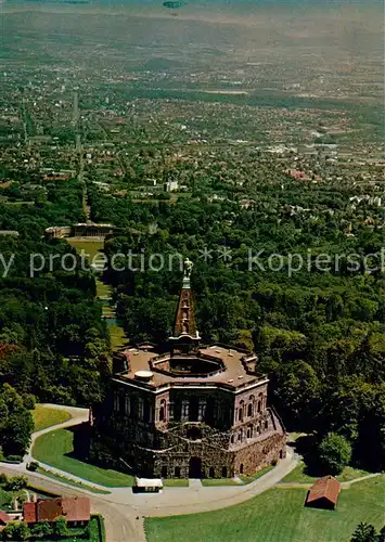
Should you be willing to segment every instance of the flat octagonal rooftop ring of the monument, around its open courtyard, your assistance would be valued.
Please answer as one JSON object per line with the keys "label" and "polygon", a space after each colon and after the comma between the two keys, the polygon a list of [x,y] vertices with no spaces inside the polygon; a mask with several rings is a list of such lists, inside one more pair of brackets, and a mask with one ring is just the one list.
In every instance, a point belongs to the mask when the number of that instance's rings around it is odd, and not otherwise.
{"label": "flat octagonal rooftop ring of the monument, around its open courtyard", "polygon": [[121,354],[127,364],[115,378],[146,389],[202,386],[239,391],[267,380],[249,369],[256,361],[254,353],[224,346],[198,348],[189,354],[158,354],[153,346],[143,345]]}

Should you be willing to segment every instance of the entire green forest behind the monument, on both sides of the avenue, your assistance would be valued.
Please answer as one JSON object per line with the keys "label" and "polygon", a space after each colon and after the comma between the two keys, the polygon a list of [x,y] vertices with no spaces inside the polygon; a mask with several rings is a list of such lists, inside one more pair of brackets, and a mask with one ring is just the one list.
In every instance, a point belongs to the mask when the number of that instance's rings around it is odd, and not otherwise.
{"label": "entire green forest behind the monument, on both sides of the avenue", "polygon": [[[132,158],[125,178],[130,190],[143,182],[143,163],[151,165],[154,154]],[[383,468],[385,281],[371,256],[382,250],[383,230],[365,220],[381,210],[367,201],[352,208],[351,197],[363,192],[358,185],[298,183],[258,153],[244,155],[242,165],[231,155],[223,162],[220,173],[213,160],[198,179],[193,168],[175,167],[169,177],[183,176],[189,193],[141,203],[129,190],[119,197],[101,192],[89,175],[92,220],[119,227],[105,242],[104,280],[114,287],[128,337],[167,339],[181,271],[116,271],[113,257],[130,250],[188,256],[203,341],[257,352],[257,370],[269,375],[287,430],[312,433],[318,441],[336,433],[351,444],[355,463]],[[229,181],[235,173],[241,185]],[[22,197],[16,189],[7,195]],[[81,191],[70,181],[65,190],[48,184],[31,197],[31,206],[0,204],[0,229],[20,232],[0,237],[0,254],[16,254],[0,279],[0,383],[22,398],[90,405],[102,400],[111,372],[94,274],[57,267],[30,276],[28,268],[31,253],[75,254],[65,240],[49,242],[42,234],[49,225],[84,220]],[[249,255],[260,250],[260,264],[251,266]],[[351,269],[343,257],[330,271],[311,264],[291,273],[288,255],[308,261],[309,251],[311,263],[322,254],[355,254],[358,263]],[[269,263],[274,254],[283,257],[275,271]]]}

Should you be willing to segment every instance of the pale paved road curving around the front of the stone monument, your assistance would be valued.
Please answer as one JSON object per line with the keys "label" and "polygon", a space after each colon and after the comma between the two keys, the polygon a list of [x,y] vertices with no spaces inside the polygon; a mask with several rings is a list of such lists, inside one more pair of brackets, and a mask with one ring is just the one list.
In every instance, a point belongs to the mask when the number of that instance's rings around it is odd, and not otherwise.
{"label": "pale paved road curving around the front of the stone monument", "polygon": [[[33,446],[36,439],[54,429],[70,427],[88,421],[87,409],[74,409],[50,404],[51,408],[66,410],[73,418],[35,433],[30,449],[21,465],[0,464],[0,472],[10,476],[27,476],[30,483],[42,490],[64,495],[87,494],[92,504],[92,511],[99,512],[105,519],[107,542],[145,542],[143,517],[169,516],[176,514],[193,514],[232,506],[252,499],[278,483],[298,464],[299,457],[287,448],[287,456],[278,465],[248,486],[203,487],[192,483],[189,488],[166,488],[162,494],[134,494],[130,488],[104,488],[84,480],[68,473],[44,465],[53,474],[60,474],[74,481],[111,491],[108,494],[95,494],[86,489],[69,487],[65,482],[52,480],[38,473],[26,470],[26,464],[33,459]],[[41,463],[41,462],[40,462]]]}

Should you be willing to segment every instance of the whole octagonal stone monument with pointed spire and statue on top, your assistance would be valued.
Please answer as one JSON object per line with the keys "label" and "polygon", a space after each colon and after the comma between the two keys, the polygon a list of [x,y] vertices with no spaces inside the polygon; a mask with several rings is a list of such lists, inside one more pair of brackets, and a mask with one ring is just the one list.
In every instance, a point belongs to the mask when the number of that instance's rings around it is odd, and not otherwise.
{"label": "whole octagonal stone monument with pointed spire and statue on top", "polygon": [[285,456],[285,431],[256,356],[200,346],[191,269],[187,260],[168,351],[138,345],[115,354],[92,414],[91,457],[145,477],[253,475]]}

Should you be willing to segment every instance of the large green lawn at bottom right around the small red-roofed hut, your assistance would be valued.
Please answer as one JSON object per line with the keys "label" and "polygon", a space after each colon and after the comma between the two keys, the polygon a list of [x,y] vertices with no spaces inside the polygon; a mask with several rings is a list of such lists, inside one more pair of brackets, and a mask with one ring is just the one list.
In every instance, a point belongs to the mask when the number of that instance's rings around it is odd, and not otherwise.
{"label": "large green lawn at bottom right around the small red-roofed hut", "polygon": [[385,475],[343,490],[333,512],[305,508],[306,492],[273,488],[217,512],[147,518],[147,542],[349,542],[360,521],[384,525]]}

